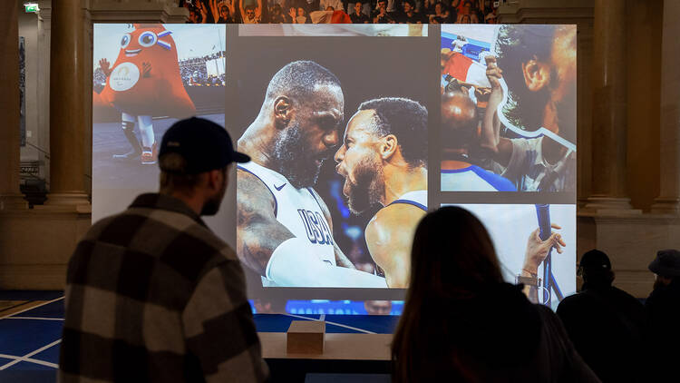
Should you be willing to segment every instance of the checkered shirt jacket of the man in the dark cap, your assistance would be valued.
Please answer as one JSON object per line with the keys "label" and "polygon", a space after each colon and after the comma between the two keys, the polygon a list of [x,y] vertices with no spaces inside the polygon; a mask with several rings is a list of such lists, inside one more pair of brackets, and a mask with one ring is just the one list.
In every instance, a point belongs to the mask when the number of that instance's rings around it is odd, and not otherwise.
{"label": "checkered shirt jacket of the man in the dark cap", "polygon": [[142,194],[69,261],[61,382],[268,378],[238,258],[180,200]]}

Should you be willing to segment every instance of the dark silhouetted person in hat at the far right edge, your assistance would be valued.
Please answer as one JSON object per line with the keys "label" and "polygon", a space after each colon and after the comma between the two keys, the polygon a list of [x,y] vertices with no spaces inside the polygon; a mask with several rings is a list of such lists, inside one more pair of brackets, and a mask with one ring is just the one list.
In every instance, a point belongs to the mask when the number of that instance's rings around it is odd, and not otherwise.
{"label": "dark silhouetted person in hat at the far right edge", "polygon": [[[649,370],[656,381],[674,381],[680,360],[680,251],[659,250],[649,270],[656,275],[654,290],[645,302],[652,351]],[[670,377],[675,378],[668,380]]]}

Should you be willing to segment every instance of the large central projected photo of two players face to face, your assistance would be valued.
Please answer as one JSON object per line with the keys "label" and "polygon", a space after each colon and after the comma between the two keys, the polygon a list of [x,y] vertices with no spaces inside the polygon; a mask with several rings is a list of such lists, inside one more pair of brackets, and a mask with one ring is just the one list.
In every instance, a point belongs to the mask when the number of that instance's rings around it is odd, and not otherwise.
{"label": "large central projected photo of two players face to face", "polygon": [[233,106],[253,159],[238,166],[238,256],[264,287],[406,287],[432,92],[403,74],[432,72],[414,59],[424,40],[256,38],[228,56],[248,65]]}

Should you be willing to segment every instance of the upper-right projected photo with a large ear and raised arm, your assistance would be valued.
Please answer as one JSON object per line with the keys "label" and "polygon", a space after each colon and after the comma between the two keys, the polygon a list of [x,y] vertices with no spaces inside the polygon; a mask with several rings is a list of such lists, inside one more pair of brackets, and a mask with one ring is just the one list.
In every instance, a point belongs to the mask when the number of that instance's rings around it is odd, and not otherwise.
{"label": "upper-right projected photo with a large ear and raised arm", "polygon": [[576,191],[576,27],[442,25],[442,191]]}

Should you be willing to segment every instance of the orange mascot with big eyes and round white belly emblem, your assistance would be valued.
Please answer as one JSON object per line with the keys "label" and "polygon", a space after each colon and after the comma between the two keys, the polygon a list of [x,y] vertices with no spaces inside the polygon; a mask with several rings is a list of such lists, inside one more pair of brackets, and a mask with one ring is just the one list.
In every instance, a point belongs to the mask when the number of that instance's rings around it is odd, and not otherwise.
{"label": "orange mascot with big eyes and round white belly emblem", "polygon": [[[131,152],[114,158],[141,155],[142,164],[156,163],[158,145],[151,117],[185,118],[196,113],[181,81],[177,46],[170,34],[160,24],[135,24],[134,31],[122,35],[113,67],[106,59],[99,62],[106,74],[99,103],[122,113],[122,131],[132,145]],[[139,123],[141,144],[134,133],[135,123]]]}

